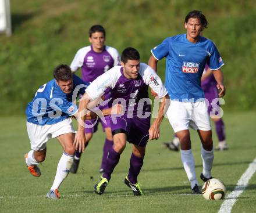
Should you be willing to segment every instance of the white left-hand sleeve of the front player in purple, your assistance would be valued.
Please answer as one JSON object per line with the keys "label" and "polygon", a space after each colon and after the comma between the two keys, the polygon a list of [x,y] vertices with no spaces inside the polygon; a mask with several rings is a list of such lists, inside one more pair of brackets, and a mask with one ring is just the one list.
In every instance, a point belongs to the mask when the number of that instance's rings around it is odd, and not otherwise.
{"label": "white left-hand sleeve of the front player in purple", "polygon": [[114,88],[119,77],[122,75],[120,72],[121,66],[112,67],[106,73],[99,75],[91,84],[87,87],[86,93],[91,100],[101,97],[105,90],[108,88]]}

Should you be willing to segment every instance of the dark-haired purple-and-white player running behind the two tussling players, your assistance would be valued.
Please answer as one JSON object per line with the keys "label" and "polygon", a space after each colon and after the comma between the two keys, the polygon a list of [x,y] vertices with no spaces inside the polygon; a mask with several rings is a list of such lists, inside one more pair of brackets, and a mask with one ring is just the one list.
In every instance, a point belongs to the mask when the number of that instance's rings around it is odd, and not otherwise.
{"label": "dark-haired purple-and-white player running behind the two tussling players", "polygon": [[[104,74],[110,68],[120,63],[118,50],[112,48],[111,46],[104,45],[105,37],[105,29],[102,26],[92,26],[89,30],[89,41],[91,42],[91,45],[79,49],[76,53],[76,56],[74,56],[70,67],[73,72],[81,68],[82,79],[84,81],[93,82],[95,78],[97,78],[99,75]],[[109,90],[105,91],[104,96],[105,99],[109,98]],[[107,107],[107,105],[101,106],[100,109],[106,109]],[[91,138],[93,138],[93,133],[97,131],[99,122],[101,122],[102,129],[106,135],[103,147],[102,163],[99,169],[99,172],[104,172],[108,150],[113,145],[109,116],[106,116],[104,121],[102,121],[101,119],[86,121],[87,126],[86,128],[84,128],[84,132],[86,133],[87,146]],[[79,153],[79,151],[76,151],[74,155],[74,162],[70,169],[70,172],[77,172],[80,157],[81,153]]]}

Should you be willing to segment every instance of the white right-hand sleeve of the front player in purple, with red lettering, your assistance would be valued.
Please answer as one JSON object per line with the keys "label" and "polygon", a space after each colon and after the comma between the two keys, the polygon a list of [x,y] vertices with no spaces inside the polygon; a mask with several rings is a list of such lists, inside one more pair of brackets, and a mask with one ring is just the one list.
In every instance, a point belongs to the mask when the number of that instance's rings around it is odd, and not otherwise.
{"label": "white right-hand sleeve of the front player in purple, with red lettering", "polygon": [[159,98],[163,98],[167,95],[168,92],[163,85],[161,78],[150,66],[145,63],[140,63],[140,75],[143,77],[145,84],[150,86],[150,88],[157,93]]}

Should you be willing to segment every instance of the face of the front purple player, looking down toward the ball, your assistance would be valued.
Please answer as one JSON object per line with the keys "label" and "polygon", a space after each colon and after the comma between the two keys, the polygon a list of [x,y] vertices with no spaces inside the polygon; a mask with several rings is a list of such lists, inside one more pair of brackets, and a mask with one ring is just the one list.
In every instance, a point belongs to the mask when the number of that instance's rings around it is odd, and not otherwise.
{"label": "face of the front purple player, looking down toward the ball", "polygon": [[138,77],[138,70],[140,70],[140,60],[127,60],[126,63],[121,62],[123,73],[126,78],[135,79]]}

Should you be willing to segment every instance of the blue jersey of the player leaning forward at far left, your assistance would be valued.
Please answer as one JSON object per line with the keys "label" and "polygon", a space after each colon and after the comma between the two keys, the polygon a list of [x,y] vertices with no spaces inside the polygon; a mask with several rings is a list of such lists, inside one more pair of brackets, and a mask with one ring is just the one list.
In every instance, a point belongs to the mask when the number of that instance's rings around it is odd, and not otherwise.
{"label": "blue jersey of the player leaning forward at far left", "polygon": [[78,109],[72,99],[74,101],[79,94],[83,95],[89,84],[76,75],[73,75],[73,84],[69,94],[61,90],[55,79],[42,85],[27,105],[27,121],[37,125],[51,125],[76,114]]}

